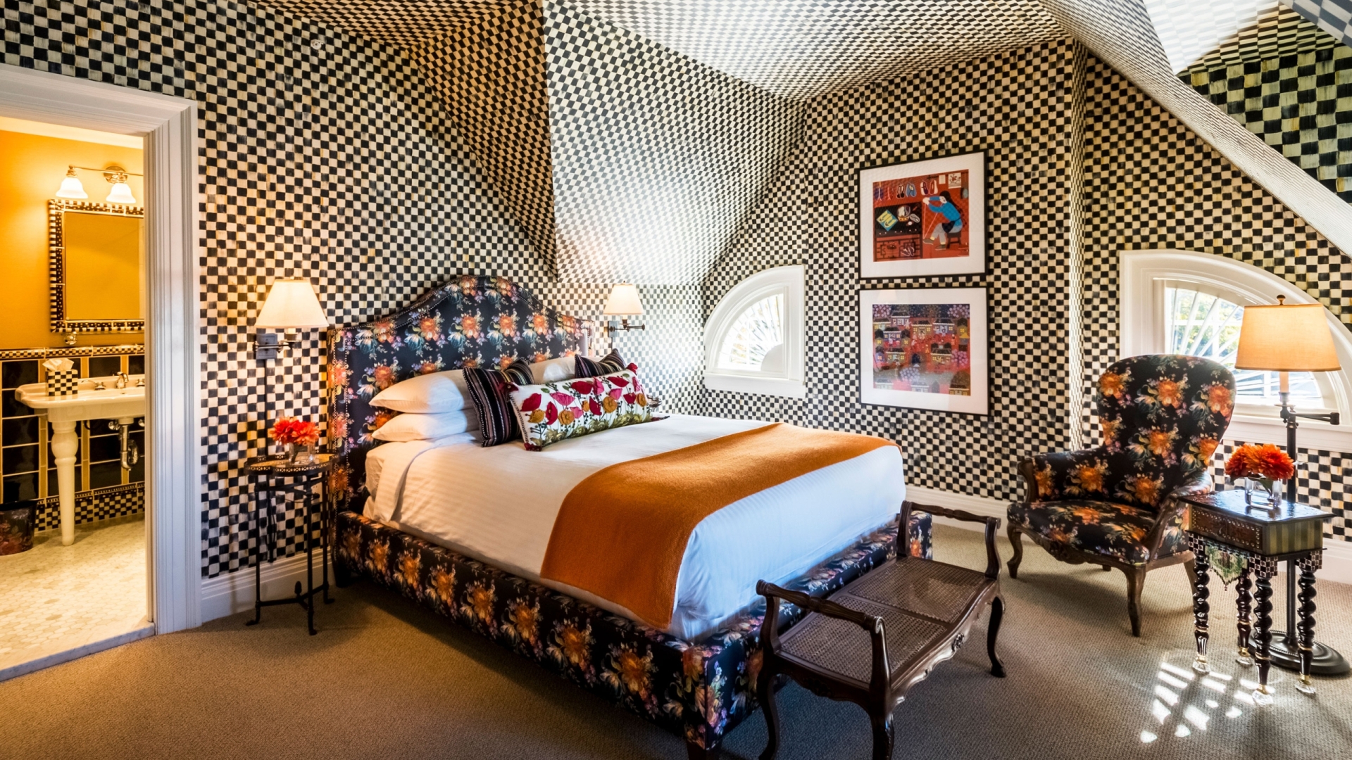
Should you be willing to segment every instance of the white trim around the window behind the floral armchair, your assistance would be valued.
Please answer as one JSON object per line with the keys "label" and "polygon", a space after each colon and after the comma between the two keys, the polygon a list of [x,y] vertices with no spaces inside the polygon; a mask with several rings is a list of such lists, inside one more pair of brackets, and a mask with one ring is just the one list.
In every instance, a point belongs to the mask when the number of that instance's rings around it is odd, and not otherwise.
{"label": "white trim around the window behind the floral armchair", "polygon": [[[1225,256],[1198,253],[1192,250],[1124,250],[1118,256],[1118,281],[1121,303],[1121,356],[1161,353],[1164,349],[1161,310],[1161,280],[1183,280],[1218,288],[1234,293],[1244,306],[1276,303],[1278,295],[1284,295],[1287,303],[1320,303],[1303,289],[1272,275],[1267,269],[1244,264]],[[1352,335],[1332,311],[1325,308],[1325,316],[1333,334],[1333,346],[1338,354],[1343,372],[1325,375],[1332,387],[1332,402],[1344,419],[1344,425],[1333,426],[1311,419],[1301,421],[1297,442],[1306,449],[1326,449],[1352,452],[1352,426],[1348,426],[1348,412],[1352,411],[1352,383],[1347,369],[1352,368]],[[1286,425],[1275,417],[1245,414],[1236,408],[1226,440],[1256,444],[1276,444],[1286,446]]]}

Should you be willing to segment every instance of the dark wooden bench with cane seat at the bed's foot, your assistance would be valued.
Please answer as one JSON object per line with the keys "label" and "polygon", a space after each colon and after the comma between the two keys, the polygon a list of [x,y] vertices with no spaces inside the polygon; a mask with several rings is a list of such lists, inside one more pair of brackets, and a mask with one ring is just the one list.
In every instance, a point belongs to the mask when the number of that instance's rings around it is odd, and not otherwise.
{"label": "dark wooden bench with cane seat at the bed's foot", "polygon": [[[873,725],[873,760],[892,756],[892,710],[934,665],[957,652],[986,604],[991,606],[986,634],[991,675],[1005,678],[1005,667],[995,656],[995,637],[1005,614],[1000,557],[995,550],[1000,519],[906,502],[899,515],[903,530],[898,541],[904,541],[904,526],[913,510],[984,522],[986,572],[911,557],[898,545],[895,560],[861,575],[826,599],[764,580],[756,584],[756,592],[765,596],[764,664],[756,695],[769,728],[769,744],[761,760],[772,760],[779,752],[775,682],[780,673],[819,696],[863,707]],[[783,636],[779,633],[780,599],[808,611]]]}

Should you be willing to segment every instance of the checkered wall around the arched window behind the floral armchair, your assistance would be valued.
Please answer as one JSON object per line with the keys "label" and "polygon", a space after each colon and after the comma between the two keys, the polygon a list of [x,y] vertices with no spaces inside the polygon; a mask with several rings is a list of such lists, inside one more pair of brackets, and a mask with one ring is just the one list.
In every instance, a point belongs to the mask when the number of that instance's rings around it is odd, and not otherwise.
{"label": "checkered wall around the arched window behind the floral armchair", "polygon": [[[1094,381],[1118,358],[1118,252],[1184,249],[1261,266],[1352,325],[1352,262],[1299,216],[1122,74],[1091,60],[1084,147],[1084,437],[1102,442]],[[1228,449],[1229,450],[1229,449]],[[1228,453],[1226,450],[1226,453]],[[1302,449],[1302,498],[1334,514],[1343,538],[1343,461]],[[1218,462],[1224,460],[1217,460]]]}

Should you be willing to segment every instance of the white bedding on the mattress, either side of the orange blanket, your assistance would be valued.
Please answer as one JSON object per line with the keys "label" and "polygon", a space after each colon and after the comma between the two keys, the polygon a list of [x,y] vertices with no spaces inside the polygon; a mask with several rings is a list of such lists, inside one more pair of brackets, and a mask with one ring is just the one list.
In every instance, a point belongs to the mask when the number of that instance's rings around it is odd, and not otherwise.
{"label": "white bedding on the mattress, either side of the orange blanket", "polygon": [[[549,536],[568,492],[622,461],[691,446],[764,422],[672,415],[561,441],[483,448],[464,437],[384,444],[366,456],[366,517],[602,609],[626,609],[542,580]],[[783,581],[896,518],[902,457],[883,446],[768,488],[704,518],[690,537],[668,633],[699,637],[744,610],[756,581]]]}

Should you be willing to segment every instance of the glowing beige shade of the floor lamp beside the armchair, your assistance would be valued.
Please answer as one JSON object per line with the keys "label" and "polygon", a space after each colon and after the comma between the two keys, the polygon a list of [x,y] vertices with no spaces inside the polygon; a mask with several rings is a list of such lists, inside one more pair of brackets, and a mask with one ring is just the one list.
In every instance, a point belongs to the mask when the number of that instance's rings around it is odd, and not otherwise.
{"label": "glowing beige shade of the floor lamp beside the armchair", "polygon": [[1268,372],[1340,369],[1324,307],[1317,303],[1244,307],[1234,368]]}

